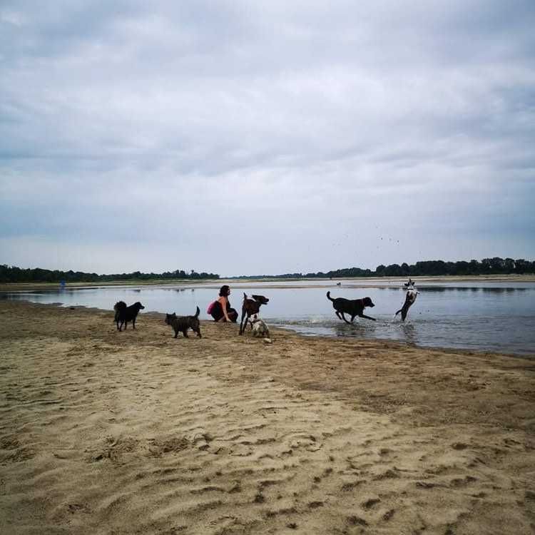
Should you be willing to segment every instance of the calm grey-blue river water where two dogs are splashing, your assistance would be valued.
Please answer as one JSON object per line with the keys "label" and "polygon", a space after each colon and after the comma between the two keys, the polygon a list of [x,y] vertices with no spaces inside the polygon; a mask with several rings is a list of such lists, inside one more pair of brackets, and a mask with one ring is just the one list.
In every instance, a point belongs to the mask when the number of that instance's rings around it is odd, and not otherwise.
{"label": "calm grey-blue river water where two dogs are splashing", "polygon": [[[208,319],[206,307],[218,295],[220,284],[165,287],[97,287],[44,292],[4,292],[4,299],[64,306],[83,305],[112,310],[123,300],[141,301],[143,312],[192,314],[198,305],[201,319]],[[399,340],[429,347],[457,347],[474,351],[496,351],[535,355],[535,283],[533,282],[422,282],[419,295],[405,322],[394,317],[405,292],[401,284],[377,281],[331,281],[238,283],[230,302],[241,310],[243,292],[270,298],[260,311],[268,325],[287,327],[304,335],[365,337]],[[377,321],[355,319],[347,325],[335,316],[331,297],[371,297],[375,304],[365,313]],[[211,319],[211,318],[210,318]],[[143,325],[140,321],[140,326]]]}

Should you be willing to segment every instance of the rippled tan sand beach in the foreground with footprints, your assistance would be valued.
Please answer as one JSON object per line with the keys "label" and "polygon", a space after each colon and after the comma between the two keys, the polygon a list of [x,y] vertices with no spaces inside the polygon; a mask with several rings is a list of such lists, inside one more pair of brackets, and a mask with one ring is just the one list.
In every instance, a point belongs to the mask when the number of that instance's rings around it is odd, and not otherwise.
{"label": "rippled tan sand beach in the foreground with footprints", "polygon": [[0,302],[1,534],[535,531],[535,360],[202,330]]}

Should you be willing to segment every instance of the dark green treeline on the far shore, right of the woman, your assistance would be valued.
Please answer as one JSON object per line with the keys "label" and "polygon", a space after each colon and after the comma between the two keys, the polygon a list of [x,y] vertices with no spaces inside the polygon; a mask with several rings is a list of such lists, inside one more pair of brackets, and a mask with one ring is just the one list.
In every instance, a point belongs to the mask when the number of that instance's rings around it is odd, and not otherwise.
{"label": "dark green treeline on the far shore, right of the woman", "polygon": [[[470,260],[465,262],[445,262],[444,260],[422,260],[415,264],[407,263],[378,265],[374,271],[360,267],[346,267],[341,270],[317,273],[285,273],[283,275],[257,275],[248,278],[277,278],[277,279],[301,279],[301,278],[345,278],[345,277],[416,277],[418,275],[521,275],[523,273],[535,273],[535,262],[519,258],[484,258],[483,260]],[[238,278],[238,277],[236,277]]]}

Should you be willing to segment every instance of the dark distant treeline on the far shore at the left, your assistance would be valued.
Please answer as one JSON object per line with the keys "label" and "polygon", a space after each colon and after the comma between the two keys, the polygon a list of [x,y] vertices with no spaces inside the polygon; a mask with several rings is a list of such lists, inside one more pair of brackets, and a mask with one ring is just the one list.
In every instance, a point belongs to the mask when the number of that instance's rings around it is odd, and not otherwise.
{"label": "dark distant treeline on the far shore at the left", "polygon": [[218,279],[217,273],[198,273],[195,270],[165,271],[163,273],[114,273],[113,275],[98,275],[83,271],[44,270],[41,267],[24,269],[22,267],[0,265],[0,282],[114,282],[125,280],[200,280]]}

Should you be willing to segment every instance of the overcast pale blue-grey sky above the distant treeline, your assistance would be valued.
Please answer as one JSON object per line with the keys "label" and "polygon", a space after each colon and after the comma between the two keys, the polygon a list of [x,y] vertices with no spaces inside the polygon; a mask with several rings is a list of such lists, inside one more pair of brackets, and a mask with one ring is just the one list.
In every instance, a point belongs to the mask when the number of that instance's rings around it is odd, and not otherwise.
{"label": "overcast pale blue-grey sky above the distant treeline", "polygon": [[0,2],[0,264],[535,259],[535,2]]}

